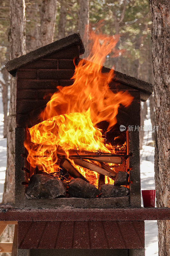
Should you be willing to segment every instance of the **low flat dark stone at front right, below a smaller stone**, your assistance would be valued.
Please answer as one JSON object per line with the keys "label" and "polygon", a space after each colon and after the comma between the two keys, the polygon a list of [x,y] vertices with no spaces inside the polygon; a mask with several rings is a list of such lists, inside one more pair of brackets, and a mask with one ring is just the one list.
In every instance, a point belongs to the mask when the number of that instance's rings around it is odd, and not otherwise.
{"label": "low flat dark stone at front right, below a smaller stone", "polygon": [[101,187],[101,197],[122,197],[129,194],[129,188],[119,187],[111,184],[104,184]]}

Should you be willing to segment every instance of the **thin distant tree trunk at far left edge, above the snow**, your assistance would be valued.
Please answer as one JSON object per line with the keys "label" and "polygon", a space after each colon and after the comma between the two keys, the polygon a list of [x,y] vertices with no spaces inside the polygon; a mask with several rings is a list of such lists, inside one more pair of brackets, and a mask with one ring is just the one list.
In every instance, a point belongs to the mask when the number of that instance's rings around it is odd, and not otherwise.
{"label": "thin distant tree trunk at far left edge, above the snow", "polygon": [[3,112],[4,112],[4,130],[3,135],[4,138],[7,137],[7,113],[8,113],[8,71],[5,66],[1,69],[1,73],[3,75],[3,79],[5,83],[2,83],[2,101],[3,101]]}

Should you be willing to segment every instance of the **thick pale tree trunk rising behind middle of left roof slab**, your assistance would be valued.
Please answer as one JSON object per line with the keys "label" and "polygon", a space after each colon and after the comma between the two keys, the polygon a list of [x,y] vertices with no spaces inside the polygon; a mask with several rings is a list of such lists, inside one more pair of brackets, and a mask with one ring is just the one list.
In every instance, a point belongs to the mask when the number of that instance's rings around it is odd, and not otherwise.
{"label": "thick pale tree trunk rising behind middle of left roof slab", "polygon": [[43,0],[41,12],[41,46],[44,46],[54,39],[57,0]]}

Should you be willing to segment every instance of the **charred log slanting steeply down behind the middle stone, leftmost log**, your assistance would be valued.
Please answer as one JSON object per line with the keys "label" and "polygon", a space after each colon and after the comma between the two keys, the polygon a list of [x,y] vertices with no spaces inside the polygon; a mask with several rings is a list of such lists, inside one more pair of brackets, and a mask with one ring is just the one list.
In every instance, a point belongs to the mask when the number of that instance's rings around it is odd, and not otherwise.
{"label": "charred log slanting steeply down behind the middle stone, leftmost log", "polygon": [[74,168],[68,159],[61,159],[60,167],[65,169],[73,178],[80,178],[89,182],[76,168]]}

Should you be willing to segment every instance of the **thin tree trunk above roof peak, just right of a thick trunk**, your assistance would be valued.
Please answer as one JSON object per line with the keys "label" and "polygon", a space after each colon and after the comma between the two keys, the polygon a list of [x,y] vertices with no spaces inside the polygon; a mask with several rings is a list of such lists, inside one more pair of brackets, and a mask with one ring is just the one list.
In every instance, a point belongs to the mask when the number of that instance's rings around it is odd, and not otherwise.
{"label": "thin tree trunk above roof peak, just right of a thick trunk", "polygon": [[60,19],[58,23],[58,39],[65,37],[65,24],[66,24],[67,8],[63,1],[61,1]]}

